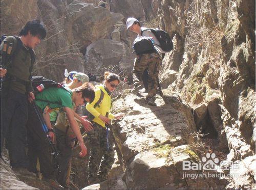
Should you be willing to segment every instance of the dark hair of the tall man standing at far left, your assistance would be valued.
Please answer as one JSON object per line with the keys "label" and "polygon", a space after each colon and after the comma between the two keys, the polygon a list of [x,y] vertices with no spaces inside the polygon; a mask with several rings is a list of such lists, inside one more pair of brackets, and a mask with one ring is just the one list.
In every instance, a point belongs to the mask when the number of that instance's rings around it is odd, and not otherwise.
{"label": "dark hair of the tall man standing at far left", "polygon": [[28,21],[23,29],[19,32],[19,36],[26,36],[28,35],[29,31],[32,36],[39,35],[41,40],[46,37],[46,28],[40,22],[40,20],[34,19]]}

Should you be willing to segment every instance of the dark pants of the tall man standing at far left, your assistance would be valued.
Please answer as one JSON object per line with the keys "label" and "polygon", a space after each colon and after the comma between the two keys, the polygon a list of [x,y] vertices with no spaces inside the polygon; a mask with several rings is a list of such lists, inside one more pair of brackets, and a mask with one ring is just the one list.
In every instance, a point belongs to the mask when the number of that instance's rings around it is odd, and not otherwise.
{"label": "dark pants of the tall man standing at far left", "polygon": [[7,141],[9,150],[10,165],[15,167],[28,166],[26,155],[26,122],[28,120],[28,100],[26,94],[17,91],[8,90],[8,93],[2,92],[1,105],[1,150],[4,145],[4,139]]}

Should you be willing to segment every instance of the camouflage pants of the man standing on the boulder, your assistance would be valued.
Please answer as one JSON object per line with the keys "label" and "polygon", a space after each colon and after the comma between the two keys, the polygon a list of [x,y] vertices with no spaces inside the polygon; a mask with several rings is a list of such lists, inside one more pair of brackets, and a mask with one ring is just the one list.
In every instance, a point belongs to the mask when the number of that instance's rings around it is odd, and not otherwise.
{"label": "camouflage pants of the man standing on the boulder", "polygon": [[136,86],[143,80],[143,73],[148,70],[148,94],[147,97],[155,97],[158,87],[158,73],[162,58],[157,52],[144,53],[134,60],[133,83]]}

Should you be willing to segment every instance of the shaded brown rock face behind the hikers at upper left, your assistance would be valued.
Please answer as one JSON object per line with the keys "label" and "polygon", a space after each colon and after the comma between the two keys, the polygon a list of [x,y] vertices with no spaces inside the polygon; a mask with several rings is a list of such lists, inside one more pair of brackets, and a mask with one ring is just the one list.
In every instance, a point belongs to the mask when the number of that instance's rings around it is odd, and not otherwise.
{"label": "shaded brown rock face behind the hikers at upper left", "polygon": [[[99,1],[2,1],[1,34],[17,35],[28,20],[42,20],[48,33],[46,39],[35,49],[37,61],[34,75],[61,81],[63,71],[67,68],[101,76],[103,69],[92,69],[98,67],[98,62],[102,68],[111,64],[116,66],[114,71],[131,73],[133,62],[130,60],[134,59],[134,55],[128,46],[131,46],[130,36],[133,35],[124,30],[123,15],[98,7],[98,3]],[[102,42],[97,41],[101,39],[108,39],[107,43],[103,43],[96,52],[87,52],[87,48],[97,48],[97,44]],[[122,50],[116,52],[115,48]],[[113,59],[108,58],[109,55]],[[125,75],[131,77],[131,74]]]}

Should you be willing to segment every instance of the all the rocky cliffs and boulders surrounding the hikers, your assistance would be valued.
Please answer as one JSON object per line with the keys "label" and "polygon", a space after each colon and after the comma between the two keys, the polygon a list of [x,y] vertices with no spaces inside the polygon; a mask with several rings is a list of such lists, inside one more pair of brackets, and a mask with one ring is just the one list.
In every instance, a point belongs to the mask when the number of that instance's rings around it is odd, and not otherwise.
{"label": "all the rocky cliffs and boulders surrounding the hikers", "polygon": [[[256,188],[254,1],[106,2],[106,8],[89,0],[1,2],[1,33],[17,34],[35,17],[45,23],[48,36],[36,49],[34,72],[56,80],[65,68],[99,76],[108,69],[131,77],[136,35],[126,31],[127,17],[173,38],[174,49],[160,71],[164,96],[150,107],[129,90],[120,92],[113,112],[125,117],[113,124],[116,162],[109,180],[84,189]],[[210,160],[222,167],[183,170],[184,161]],[[82,188],[87,158],[73,161],[71,180]],[[49,188],[36,178],[18,176],[30,185],[25,187],[6,163],[1,163],[3,188]],[[199,174],[221,178],[191,178]]]}

